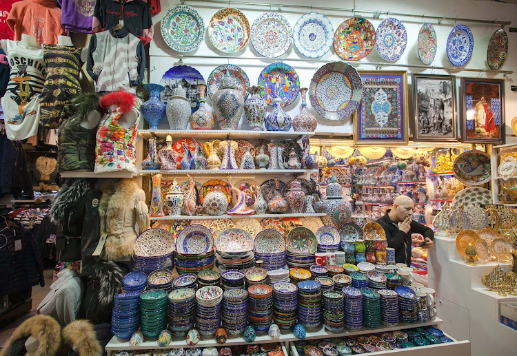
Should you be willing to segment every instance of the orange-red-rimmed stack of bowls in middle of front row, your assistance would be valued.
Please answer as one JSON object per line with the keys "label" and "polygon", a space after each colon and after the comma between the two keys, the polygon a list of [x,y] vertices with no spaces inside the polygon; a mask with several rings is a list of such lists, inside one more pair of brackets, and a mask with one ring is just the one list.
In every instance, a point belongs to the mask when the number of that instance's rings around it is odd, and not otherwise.
{"label": "orange-red-rimmed stack of bowls in middle of front row", "polygon": [[256,331],[265,331],[273,324],[273,289],[267,284],[254,284],[247,289],[248,322]]}

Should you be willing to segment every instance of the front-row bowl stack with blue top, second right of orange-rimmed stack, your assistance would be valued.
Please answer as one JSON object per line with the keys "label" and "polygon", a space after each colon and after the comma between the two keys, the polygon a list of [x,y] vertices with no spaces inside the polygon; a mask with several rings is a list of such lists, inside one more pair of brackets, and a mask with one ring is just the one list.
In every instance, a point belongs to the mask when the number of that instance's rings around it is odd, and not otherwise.
{"label": "front-row bowl stack with blue top, second right of orange-rimmed stack", "polygon": [[298,283],[298,324],[316,328],[321,324],[321,284],[313,280]]}

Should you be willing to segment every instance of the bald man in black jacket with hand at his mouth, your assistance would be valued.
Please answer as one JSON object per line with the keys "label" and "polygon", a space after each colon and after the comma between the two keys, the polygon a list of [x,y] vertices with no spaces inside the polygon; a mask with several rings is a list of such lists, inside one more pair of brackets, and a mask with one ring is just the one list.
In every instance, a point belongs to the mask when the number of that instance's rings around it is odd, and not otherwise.
{"label": "bald man in black jacket with hand at his mouth", "polygon": [[434,233],[432,229],[412,220],[415,204],[408,196],[398,196],[385,216],[376,222],[381,224],[386,232],[388,247],[395,249],[397,263],[405,263],[411,266],[411,234],[420,233],[424,237],[424,248],[434,246]]}

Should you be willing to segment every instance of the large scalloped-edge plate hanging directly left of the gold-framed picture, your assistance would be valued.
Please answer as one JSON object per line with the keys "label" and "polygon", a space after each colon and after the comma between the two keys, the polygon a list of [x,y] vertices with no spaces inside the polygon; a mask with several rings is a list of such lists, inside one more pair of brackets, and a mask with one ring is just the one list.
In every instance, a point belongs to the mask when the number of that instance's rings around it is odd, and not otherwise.
{"label": "large scalloped-edge plate hanging directly left of the gold-framed picture", "polygon": [[363,81],[348,63],[327,63],[311,79],[311,105],[327,120],[345,120],[356,111],[362,98]]}

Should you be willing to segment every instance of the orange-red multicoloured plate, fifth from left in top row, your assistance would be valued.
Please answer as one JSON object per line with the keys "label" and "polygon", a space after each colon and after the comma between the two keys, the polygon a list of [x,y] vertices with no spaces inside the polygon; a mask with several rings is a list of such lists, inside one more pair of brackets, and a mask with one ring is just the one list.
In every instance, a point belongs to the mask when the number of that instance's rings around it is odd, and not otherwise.
{"label": "orange-red multicoloured plate, fifth from left in top row", "polygon": [[363,17],[352,17],[334,32],[334,51],[345,61],[358,61],[374,49],[375,28]]}

